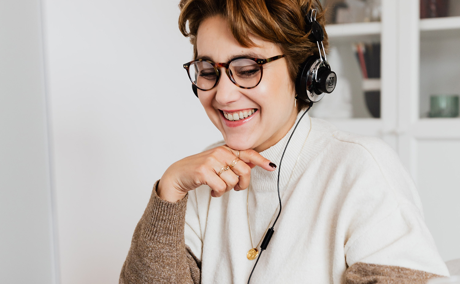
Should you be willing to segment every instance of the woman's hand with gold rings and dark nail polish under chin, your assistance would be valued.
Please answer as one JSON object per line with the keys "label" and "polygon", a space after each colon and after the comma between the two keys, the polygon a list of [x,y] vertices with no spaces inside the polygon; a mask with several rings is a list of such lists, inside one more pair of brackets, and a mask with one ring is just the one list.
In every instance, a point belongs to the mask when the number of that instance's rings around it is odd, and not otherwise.
{"label": "woman's hand with gold rings and dark nail polish under chin", "polygon": [[[167,168],[156,192],[161,199],[175,202],[184,198],[188,191],[207,184],[212,189],[211,196],[219,197],[231,189],[246,189],[251,168],[259,166],[267,171],[276,168],[275,164],[252,149],[241,150],[239,160],[237,156],[238,150],[223,145],[186,157]],[[232,169],[218,175],[223,167],[230,166],[235,159],[237,162],[234,162]]]}

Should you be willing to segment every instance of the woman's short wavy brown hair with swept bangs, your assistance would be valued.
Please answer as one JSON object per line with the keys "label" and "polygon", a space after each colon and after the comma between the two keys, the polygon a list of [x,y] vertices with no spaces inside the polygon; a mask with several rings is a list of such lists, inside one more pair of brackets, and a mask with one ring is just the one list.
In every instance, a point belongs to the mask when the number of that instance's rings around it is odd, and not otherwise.
{"label": "woman's short wavy brown hair with swept bangs", "polygon": [[[190,37],[194,59],[197,56],[196,35],[201,22],[215,15],[224,17],[233,36],[244,47],[253,46],[249,34],[278,45],[286,57],[293,84],[299,67],[311,55],[318,55],[316,42],[310,39],[304,20],[305,12],[317,10],[316,20],[324,29],[324,11],[319,0],[181,0],[179,29]],[[188,30],[187,30],[188,22]],[[328,48],[325,33],[324,48]],[[299,109],[305,106],[299,100]]]}

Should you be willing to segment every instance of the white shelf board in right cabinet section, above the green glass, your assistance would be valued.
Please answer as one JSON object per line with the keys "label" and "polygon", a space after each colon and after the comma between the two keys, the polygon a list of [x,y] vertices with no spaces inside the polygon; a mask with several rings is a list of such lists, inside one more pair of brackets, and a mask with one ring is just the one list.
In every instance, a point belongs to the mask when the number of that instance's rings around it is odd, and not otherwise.
{"label": "white shelf board in right cabinet section, above the green glass", "polygon": [[460,37],[460,17],[428,18],[420,20],[420,37]]}

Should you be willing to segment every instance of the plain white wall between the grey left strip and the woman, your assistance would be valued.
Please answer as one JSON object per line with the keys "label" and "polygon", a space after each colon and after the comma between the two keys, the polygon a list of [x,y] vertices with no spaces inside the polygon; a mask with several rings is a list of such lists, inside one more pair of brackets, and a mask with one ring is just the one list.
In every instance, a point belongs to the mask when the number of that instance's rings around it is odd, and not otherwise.
{"label": "plain white wall between the grey left strip and the woman", "polygon": [[178,0],[44,0],[62,284],[117,283],[152,185],[221,139]]}

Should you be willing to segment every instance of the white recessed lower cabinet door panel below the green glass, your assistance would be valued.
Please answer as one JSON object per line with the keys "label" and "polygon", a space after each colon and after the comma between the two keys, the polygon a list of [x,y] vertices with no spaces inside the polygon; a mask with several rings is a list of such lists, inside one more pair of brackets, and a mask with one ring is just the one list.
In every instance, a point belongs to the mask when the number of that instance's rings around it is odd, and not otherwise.
{"label": "white recessed lower cabinet door panel below the green glass", "polygon": [[420,139],[416,150],[426,225],[444,260],[460,258],[460,140]]}

